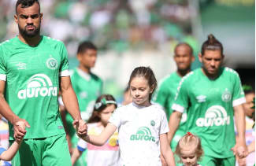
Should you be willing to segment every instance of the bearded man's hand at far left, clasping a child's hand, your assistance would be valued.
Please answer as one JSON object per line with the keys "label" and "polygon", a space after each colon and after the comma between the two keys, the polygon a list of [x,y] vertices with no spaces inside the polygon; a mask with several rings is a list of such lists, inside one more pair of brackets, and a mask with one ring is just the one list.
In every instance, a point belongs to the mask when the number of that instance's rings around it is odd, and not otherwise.
{"label": "bearded man's hand at far left, clasping a child's hand", "polygon": [[17,119],[13,120],[14,138],[20,142],[26,134],[26,127],[30,127],[27,120]]}

